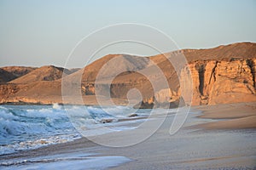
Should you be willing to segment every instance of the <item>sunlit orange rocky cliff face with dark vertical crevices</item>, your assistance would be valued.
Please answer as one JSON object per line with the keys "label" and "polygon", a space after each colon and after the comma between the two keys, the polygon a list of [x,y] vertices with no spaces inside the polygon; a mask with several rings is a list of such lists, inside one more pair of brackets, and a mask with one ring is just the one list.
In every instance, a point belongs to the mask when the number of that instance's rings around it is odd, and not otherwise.
{"label": "sunlit orange rocky cliff face with dark vertical crevices", "polygon": [[[193,105],[256,101],[256,59],[195,61],[189,64]],[[185,86],[183,86],[185,87]]]}

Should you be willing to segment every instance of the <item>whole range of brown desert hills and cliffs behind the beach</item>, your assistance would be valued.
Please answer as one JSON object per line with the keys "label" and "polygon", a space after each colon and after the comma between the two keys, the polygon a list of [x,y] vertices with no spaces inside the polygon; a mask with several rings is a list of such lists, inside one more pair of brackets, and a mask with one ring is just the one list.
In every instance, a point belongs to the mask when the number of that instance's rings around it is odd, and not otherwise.
{"label": "whole range of brown desert hills and cliffs behind the beach", "polygon": [[[166,56],[178,58],[182,54],[187,58],[188,65],[177,73]],[[109,65],[110,60],[114,67]],[[169,88],[153,89],[150,81],[157,82],[160,77],[159,71],[154,70],[155,65],[166,77]],[[70,84],[82,77],[84,102],[96,105],[96,78],[101,69],[103,72],[98,77],[97,89],[104,94],[108,89],[106,82],[111,80],[110,94],[119,105],[127,103],[127,94],[133,88],[142,94],[142,105],[137,107],[176,107],[180,102],[184,105],[181,91],[186,88],[183,79],[188,71],[191,71],[193,83],[192,105],[256,101],[256,43],[240,42],[210,49],[183,49],[150,57],[109,54],[80,70],[64,70],[49,65],[32,68],[19,77],[1,68],[0,103],[62,103],[61,77],[65,75]],[[181,84],[177,74],[181,76]],[[76,101],[70,103],[75,104]]]}

